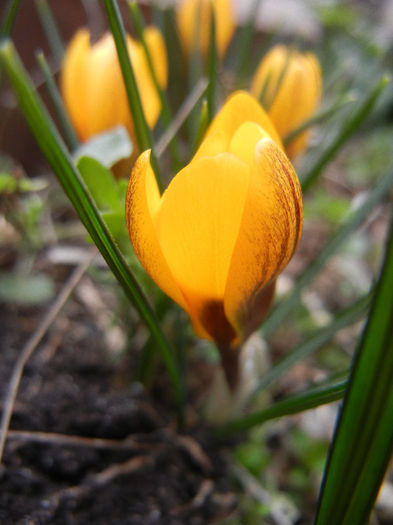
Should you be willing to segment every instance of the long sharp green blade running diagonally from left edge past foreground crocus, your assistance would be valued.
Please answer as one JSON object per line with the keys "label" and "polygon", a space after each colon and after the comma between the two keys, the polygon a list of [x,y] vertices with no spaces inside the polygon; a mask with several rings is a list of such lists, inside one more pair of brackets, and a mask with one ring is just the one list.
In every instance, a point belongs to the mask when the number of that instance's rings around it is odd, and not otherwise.
{"label": "long sharp green blade running diagonally from left edge past foreground crocus", "polygon": [[97,248],[155,339],[172,382],[180,421],[184,394],[180,374],[173,357],[173,349],[163,335],[154,312],[113,241],[10,40],[6,39],[0,43],[0,57],[17,95],[22,113],[38,145]]}

